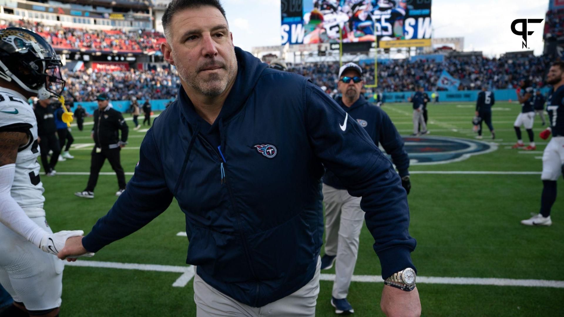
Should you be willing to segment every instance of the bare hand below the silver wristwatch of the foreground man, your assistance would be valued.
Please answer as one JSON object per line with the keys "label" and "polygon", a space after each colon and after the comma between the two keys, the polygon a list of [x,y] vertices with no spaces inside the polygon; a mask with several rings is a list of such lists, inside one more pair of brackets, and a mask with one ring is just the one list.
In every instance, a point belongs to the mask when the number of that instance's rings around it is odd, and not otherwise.
{"label": "bare hand below the silver wristwatch of the foreground man", "polygon": [[387,317],[421,316],[421,301],[417,287],[411,292],[406,292],[393,286],[384,285],[380,308]]}

